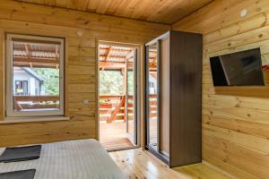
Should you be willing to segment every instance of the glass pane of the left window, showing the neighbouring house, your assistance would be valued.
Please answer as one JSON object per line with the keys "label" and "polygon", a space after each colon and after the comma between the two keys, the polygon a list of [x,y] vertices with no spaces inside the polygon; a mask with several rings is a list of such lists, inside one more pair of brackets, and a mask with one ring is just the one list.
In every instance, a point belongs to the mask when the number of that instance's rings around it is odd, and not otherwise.
{"label": "glass pane of the left window, showing the neighbouring house", "polygon": [[59,111],[60,44],[13,40],[13,112]]}

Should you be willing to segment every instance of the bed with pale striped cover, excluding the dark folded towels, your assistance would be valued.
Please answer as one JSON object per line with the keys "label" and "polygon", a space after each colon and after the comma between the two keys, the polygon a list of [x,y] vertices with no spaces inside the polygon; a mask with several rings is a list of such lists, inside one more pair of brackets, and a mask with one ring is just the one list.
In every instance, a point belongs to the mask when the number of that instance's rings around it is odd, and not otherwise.
{"label": "bed with pale striped cover, excluding the dark folded towels", "polygon": [[[0,148],[0,155],[4,148]],[[60,141],[42,144],[39,159],[0,163],[0,173],[37,169],[34,179],[126,178],[99,141]]]}

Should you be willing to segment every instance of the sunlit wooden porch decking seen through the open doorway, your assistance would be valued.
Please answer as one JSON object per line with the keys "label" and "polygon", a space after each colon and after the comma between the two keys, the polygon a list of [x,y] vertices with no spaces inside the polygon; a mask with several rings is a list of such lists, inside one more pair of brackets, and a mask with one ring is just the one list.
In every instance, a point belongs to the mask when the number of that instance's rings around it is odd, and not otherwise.
{"label": "sunlit wooden porch decking seen through the open doorway", "polygon": [[126,123],[100,123],[100,143],[105,149],[134,148],[126,133]]}

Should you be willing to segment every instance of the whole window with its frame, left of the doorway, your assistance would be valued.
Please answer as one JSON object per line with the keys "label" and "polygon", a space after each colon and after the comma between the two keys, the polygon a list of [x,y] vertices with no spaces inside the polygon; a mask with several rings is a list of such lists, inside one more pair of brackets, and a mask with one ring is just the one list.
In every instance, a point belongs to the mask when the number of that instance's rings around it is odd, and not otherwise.
{"label": "whole window with its frame, left of the doorway", "polygon": [[6,116],[64,115],[63,38],[7,34]]}

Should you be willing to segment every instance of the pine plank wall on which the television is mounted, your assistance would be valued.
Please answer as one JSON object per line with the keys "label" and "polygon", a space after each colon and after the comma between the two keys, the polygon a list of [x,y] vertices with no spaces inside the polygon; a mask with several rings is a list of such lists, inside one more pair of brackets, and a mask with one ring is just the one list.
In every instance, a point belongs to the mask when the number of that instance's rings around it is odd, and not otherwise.
{"label": "pine plank wall on which the television is mounted", "polygon": [[203,158],[242,179],[269,176],[269,98],[216,95],[209,57],[254,47],[268,55],[268,18],[268,0],[215,0],[172,28],[204,34]]}

